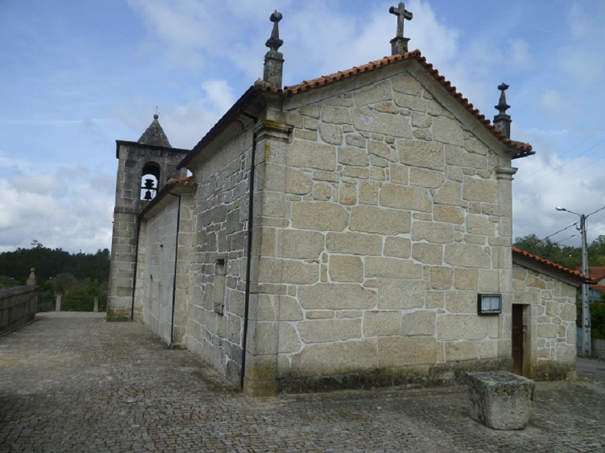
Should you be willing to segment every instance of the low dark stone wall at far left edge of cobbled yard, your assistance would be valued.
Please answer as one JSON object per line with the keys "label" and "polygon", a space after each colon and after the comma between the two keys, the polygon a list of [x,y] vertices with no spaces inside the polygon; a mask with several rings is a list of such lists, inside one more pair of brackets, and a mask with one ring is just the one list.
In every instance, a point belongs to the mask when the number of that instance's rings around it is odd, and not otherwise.
{"label": "low dark stone wall at far left edge of cobbled yard", "polygon": [[37,293],[35,286],[0,289],[0,334],[34,320]]}

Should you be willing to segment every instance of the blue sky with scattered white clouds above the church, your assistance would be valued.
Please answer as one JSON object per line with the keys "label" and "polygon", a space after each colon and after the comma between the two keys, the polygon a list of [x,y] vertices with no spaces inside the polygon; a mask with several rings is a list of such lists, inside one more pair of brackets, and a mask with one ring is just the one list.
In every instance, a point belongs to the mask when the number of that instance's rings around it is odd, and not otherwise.
{"label": "blue sky with scattered white clouds above the church", "polygon": [[[390,54],[382,0],[0,0],[0,252],[111,249],[116,140],[156,108],[190,149],[263,76],[277,9],[284,85]],[[514,237],[605,235],[605,2],[410,0],[419,49],[492,119],[510,85]],[[571,212],[558,212],[561,206]],[[594,214],[593,214],[594,213]],[[556,233],[559,230],[563,230]]]}

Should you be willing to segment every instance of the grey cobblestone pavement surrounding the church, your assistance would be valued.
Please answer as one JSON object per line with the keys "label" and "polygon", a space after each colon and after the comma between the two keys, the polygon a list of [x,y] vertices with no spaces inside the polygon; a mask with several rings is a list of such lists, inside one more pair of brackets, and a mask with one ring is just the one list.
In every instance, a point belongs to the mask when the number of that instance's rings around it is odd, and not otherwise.
{"label": "grey cobblestone pavement surrounding the church", "polygon": [[494,431],[462,387],[248,398],[93,313],[0,336],[0,452],[603,452],[604,407],[603,381],[539,382],[528,427]]}

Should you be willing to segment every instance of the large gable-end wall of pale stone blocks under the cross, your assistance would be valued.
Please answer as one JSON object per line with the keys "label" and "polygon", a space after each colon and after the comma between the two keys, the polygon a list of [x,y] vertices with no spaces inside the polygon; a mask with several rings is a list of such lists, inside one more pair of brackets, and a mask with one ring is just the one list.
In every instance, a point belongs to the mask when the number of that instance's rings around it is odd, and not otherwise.
{"label": "large gable-end wall of pale stone blocks under the cross", "polygon": [[[266,167],[265,204],[285,227],[265,214],[255,332],[278,325],[263,345],[282,390],[511,364],[510,159],[440,86],[380,74],[293,97],[285,178]],[[503,313],[477,315],[477,293],[502,293]]]}

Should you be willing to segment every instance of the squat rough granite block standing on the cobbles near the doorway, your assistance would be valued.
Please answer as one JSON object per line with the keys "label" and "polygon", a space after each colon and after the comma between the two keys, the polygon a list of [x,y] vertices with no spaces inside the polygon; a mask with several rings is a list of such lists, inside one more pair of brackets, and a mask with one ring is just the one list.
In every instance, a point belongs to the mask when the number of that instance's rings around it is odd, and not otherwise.
{"label": "squat rough granite block standing on the cobbles near the doorway", "polygon": [[467,373],[470,414],[492,429],[523,429],[532,414],[534,381],[509,373]]}

